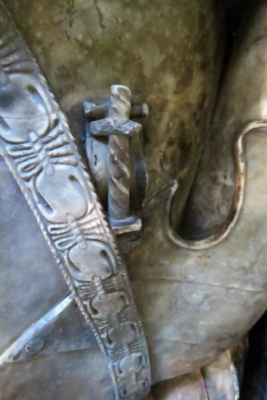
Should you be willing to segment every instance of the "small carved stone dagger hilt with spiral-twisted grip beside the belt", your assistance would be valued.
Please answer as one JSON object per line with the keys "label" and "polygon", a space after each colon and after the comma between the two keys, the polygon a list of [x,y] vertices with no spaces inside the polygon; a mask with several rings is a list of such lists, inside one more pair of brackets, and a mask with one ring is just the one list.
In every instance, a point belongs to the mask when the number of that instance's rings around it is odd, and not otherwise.
{"label": "small carved stone dagger hilt with spiral-twisted grip beside the belt", "polygon": [[[146,104],[142,104],[146,112]],[[147,106],[146,106],[147,107]],[[140,230],[141,220],[129,211],[129,136],[141,125],[129,119],[131,92],[127,86],[112,85],[106,117],[90,123],[92,136],[108,136],[108,216],[116,234]]]}

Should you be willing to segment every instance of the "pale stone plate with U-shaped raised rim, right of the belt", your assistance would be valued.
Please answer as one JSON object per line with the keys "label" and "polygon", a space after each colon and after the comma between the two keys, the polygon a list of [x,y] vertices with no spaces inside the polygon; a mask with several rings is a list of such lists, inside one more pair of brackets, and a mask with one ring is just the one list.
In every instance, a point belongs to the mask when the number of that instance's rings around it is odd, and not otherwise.
{"label": "pale stone plate with U-shaped raised rim, right of the belt", "polygon": [[168,240],[162,229],[168,193],[146,205],[149,226],[127,262],[137,306],[154,342],[152,368],[161,364],[162,371],[184,373],[211,361],[266,308],[266,157],[266,134],[250,135],[243,211],[231,234],[214,247],[190,251]]}

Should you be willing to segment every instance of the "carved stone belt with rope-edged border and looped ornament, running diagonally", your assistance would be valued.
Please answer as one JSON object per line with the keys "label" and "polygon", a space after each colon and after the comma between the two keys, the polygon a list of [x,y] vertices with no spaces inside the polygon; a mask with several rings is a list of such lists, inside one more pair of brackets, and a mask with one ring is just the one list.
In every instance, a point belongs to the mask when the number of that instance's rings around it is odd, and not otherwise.
{"label": "carved stone belt with rope-edged border and looped ornament, running diagonally", "polygon": [[143,397],[148,350],[125,265],[65,115],[1,2],[0,152],[108,356],[116,398]]}

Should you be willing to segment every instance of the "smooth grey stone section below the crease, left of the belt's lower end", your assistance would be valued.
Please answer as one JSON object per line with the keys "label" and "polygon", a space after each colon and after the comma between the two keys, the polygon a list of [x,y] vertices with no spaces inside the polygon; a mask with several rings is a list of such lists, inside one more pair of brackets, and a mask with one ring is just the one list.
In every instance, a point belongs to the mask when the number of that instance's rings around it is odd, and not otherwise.
{"label": "smooth grey stone section below the crease, left of the belt's lower end", "polygon": [[[98,348],[31,357],[1,371],[0,399],[114,400],[103,354]],[[89,372],[97,379],[90,379]]]}

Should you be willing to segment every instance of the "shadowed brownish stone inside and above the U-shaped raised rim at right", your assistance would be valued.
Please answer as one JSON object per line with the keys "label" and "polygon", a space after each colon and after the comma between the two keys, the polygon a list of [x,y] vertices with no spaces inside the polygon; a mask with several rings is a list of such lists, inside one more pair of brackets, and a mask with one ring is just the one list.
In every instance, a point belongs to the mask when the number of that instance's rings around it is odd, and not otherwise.
{"label": "shadowed brownish stone inside and above the U-shaped raised rim at right", "polygon": [[267,6],[258,0],[247,5],[180,226],[185,235],[195,238],[218,229],[229,212],[236,135],[248,122],[267,118]]}

